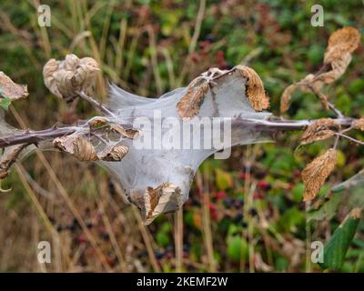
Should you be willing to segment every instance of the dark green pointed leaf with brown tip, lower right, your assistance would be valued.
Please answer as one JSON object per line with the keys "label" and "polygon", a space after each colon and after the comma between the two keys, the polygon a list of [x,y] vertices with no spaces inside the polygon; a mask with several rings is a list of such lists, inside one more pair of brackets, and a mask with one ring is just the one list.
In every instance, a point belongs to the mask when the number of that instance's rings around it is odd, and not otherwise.
{"label": "dark green pointed leaf with brown tip, lower right", "polygon": [[324,262],[319,264],[322,268],[338,270],[343,265],[351,241],[357,231],[360,210],[360,208],[353,209],[329,239],[328,244],[323,249]]}

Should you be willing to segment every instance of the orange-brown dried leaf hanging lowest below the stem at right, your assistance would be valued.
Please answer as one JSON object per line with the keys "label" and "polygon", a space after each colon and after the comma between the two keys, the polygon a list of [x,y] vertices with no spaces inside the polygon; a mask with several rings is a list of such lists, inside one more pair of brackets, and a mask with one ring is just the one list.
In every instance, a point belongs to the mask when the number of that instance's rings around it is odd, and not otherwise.
{"label": "orange-brown dried leaf hanging lowest below the stem at right", "polygon": [[319,194],[319,189],[324,185],[336,162],[336,150],[330,148],[325,154],[315,158],[304,168],[301,174],[305,184],[304,201],[312,200]]}

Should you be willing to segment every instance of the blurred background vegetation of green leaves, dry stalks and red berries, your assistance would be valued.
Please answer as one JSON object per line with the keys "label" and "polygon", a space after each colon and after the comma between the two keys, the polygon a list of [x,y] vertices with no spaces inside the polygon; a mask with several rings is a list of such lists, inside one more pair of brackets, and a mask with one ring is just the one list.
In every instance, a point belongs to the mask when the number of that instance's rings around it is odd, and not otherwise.
{"label": "blurred background vegetation of green leaves, dry stalks and red berries", "polygon": [[[106,80],[156,97],[187,85],[209,67],[249,65],[263,79],[271,111],[279,115],[282,91],[319,69],[333,31],[352,25],[364,32],[359,0],[42,4],[51,7],[50,27],[37,24],[38,0],[0,4],[0,70],[30,92],[11,105],[6,118],[32,129],[96,114],[83,102],[66,105],[46,90],[42,68],[51,57],[96,58],[103,70],[101,101]],[[315,4],[324,7],[323,27],[310,25]],[[331,101],[354,117],[364,115],[363,61],[360,46],[347,73],[328,89]],[[322,116],[332,115],[315,96],[299,92],[286,115]],[[276,144],[234,148],[225,161],[208,159],[183,210],[159,216],[147,227],[102,168],[59,153],[29,156],[2,182],[3,189],[12,190],[0,194],[0,271],[321,272],[310,260],[310,242],[328,242],[351,206],[362,206],[362,189],[332,195],[329,189],[364,167],[364,148],[341,142],[335,172],[317,201],[305,205],[300,170],[331,142],[295,151],[298,138],[299,133],[278,135]],[[52,244],[52,264],[37,262],[41,240]],[[364,271],[363,222],[335,270]]]}

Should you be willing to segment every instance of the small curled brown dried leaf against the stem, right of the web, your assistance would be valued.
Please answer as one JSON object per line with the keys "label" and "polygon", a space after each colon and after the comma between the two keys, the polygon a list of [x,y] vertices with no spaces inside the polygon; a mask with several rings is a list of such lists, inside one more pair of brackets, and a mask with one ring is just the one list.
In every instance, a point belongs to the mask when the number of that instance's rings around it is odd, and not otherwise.
{"label": "small curled brown dried leaf against the stem, right of the web", "polygon": [[327,139],[335,135],[335,129],[338,129],[335,120],[331,118],[321,118],[312,125],[308,125],[308,128],[301,137],[301,144],[307,145],[318,140]]}

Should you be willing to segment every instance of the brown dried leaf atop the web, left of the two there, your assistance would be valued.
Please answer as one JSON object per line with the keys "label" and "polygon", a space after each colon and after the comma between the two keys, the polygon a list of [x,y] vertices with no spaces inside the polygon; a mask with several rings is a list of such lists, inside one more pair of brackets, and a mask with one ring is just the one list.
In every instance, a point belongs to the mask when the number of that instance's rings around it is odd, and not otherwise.
{"label": "brown dried leaf atop the web, left of the two there", "polygon": [[197,77],[187,87],[186,94],[177,103],[177,113],[182,118],[192,118],[199,112],[205,95],[207,95],[208,83],[205,79]]}

